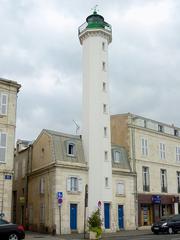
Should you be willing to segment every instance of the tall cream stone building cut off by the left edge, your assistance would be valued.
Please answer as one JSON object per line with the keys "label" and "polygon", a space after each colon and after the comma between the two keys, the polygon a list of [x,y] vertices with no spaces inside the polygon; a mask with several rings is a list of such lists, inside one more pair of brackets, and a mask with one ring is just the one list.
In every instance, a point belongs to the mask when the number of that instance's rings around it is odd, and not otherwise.
{"label": "tall cream stone building cut off by the left edge", "polygon": [[20,85],[0,78],[0,213],[11,220],[17,93]]}

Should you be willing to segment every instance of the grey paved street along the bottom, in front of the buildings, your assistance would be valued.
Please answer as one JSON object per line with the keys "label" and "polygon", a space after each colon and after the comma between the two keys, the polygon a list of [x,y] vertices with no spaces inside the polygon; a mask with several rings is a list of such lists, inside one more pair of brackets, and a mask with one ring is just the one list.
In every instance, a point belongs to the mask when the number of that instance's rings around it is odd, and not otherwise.
{"label": "grey paved street along the bottom, in front of the buildings", "polygon": [[[52,236],[48,234],[39,234],[28,232],[26,234],[26,239],[49,239],[49,240],[80,240],[84,239],[83,234],[73,234],[73,235],[62,235],[62,236]],[[88,239],[88,238],[87,238]],[[159,234],[154,235],[149,230],[147,231],[123,231],[113,234],[104,234],[102,239],[104,240],[180,240],[180,234]]]}

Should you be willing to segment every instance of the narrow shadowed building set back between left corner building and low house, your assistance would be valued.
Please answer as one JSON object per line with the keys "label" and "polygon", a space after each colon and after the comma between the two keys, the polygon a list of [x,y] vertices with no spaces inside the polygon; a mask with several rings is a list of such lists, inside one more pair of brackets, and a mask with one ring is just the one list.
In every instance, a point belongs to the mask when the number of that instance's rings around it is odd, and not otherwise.
{"label": "narrow shadowed building set back between left corner building and low house", "polygon": [[31,142],[17,140],[14,152],[12,221],[23,226],[28,224],[28,175],[31,171],[31,159]]}

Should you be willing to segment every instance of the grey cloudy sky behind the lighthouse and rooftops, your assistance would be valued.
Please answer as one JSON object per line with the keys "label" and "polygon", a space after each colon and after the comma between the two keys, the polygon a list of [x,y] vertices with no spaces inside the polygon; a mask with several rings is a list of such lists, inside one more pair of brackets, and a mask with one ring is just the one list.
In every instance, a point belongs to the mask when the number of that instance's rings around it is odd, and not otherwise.
{"label": "grey cloudy sky behind the lighthouse and rooftops", "polygon": [[0,77],[22,85],[16,138],[81,125],[77,29],[95,4],[113,29],[111,113],[180,126],[179,0],[0,0]]}

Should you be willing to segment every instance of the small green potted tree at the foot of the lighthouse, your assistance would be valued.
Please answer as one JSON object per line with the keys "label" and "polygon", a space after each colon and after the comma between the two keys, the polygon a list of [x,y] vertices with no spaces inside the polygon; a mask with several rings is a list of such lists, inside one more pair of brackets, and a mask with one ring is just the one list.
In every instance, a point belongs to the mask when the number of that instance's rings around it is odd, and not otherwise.
{"label": "small green potted tree at the foot of the lighthouse", "polygon": [[89,238],[100,239],[102,234],[102,220],[100,210],[94,211],[88,218]]}

